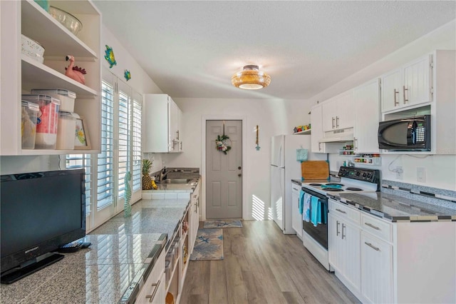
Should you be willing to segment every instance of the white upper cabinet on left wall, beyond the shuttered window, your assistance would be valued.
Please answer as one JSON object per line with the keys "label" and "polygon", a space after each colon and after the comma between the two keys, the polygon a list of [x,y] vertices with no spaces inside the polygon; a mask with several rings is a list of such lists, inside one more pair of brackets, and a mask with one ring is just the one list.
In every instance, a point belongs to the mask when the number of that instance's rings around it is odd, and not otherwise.
{"label": "white upper cabinet on left wall, beyond the shuttered window", "polygon": [[142,151],[182,152],[182,111],[167,94],[145,94]]}

